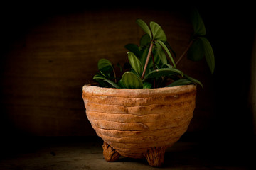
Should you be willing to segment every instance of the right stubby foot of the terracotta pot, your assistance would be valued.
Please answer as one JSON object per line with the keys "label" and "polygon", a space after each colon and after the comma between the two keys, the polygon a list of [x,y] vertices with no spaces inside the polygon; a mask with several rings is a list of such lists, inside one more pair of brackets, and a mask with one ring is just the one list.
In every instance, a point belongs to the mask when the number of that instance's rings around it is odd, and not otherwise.
{"label": "right stubby foot of the terracotta pot", "polygon": [[152,147],[146,151],[145,157],[150,166],[161,167],[164,165],[166,147]]}

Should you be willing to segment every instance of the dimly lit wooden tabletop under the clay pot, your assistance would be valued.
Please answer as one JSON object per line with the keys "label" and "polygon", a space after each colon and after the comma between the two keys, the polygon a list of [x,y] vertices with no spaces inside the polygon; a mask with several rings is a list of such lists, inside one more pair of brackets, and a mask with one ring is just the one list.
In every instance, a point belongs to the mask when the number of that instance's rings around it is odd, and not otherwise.
{"label": "dimly lit wooden tabletop under the clay pot", "polygon": [[[149,166],[146,159],[120,157],[117,162],[106,162],[102,155],[102,141],[98,138],[90,142],[84,138],[46,138],[47,141],[32,139],[5,147],[0,169],[157,169]],[[165,165],[161,169],[253,169],[252,157],[254,155],[208,144],[179,141],[166,150]]]}

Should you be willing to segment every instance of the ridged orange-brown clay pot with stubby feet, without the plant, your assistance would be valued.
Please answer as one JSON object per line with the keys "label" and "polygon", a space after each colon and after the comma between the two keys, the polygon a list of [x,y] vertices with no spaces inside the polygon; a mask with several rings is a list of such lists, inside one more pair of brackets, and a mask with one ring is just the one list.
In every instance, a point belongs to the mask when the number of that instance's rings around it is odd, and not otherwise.
{"label": "ridged orange-brown clay pot with stubby feet, without the plant", "polygon": [[193,117],[196,86],[159,89],[112,89],[83,86],[86,115],[104,140],[108,162],[120,155],[164,164],[164,152],[176,142]]}

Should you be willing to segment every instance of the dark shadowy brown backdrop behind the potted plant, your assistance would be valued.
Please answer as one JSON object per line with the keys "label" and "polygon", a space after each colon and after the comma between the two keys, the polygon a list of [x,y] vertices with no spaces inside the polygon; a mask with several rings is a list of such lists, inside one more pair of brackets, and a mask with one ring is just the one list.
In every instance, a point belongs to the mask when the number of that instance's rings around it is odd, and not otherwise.
{"label": "dark shadowy brown backdrop behind the potted plant", "polygon": [[5,145],[95,137],[81,94],[97,72],[97,61],[127,62],[124,45],[138,44],[144,34],[137,18],[159,23],[180,56],[193,33],[188,10],[196,6],[213,47],[215,72],[210,74],[205,60],[183,60],[178,66],[204,85],[198,86],[194,118],[181,140],[201,142],[214,153],[225,149],[242,155],[255,147],[249,101],[252,4],[133,5],[1,6],[0,133]]}

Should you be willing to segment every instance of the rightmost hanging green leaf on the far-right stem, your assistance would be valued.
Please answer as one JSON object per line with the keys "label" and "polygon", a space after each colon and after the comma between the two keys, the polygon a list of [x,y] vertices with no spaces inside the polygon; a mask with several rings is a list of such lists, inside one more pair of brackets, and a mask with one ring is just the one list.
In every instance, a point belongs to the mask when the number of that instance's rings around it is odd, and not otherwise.
{"label": "rightmost hanging green leaf on the far-right stem", "polygon": [[215,58],[213,54],[213,48],[210,45],[210,42],[204,38],[200,38],[203,42],[204,52],[206,56],[206,62],[208,64],[208,67],[210,68],[210,72],[213,74],[214,68],[215,68]]}

